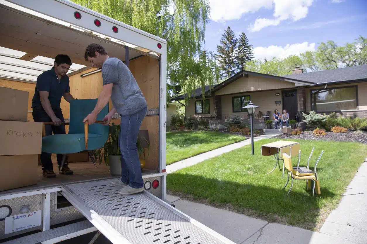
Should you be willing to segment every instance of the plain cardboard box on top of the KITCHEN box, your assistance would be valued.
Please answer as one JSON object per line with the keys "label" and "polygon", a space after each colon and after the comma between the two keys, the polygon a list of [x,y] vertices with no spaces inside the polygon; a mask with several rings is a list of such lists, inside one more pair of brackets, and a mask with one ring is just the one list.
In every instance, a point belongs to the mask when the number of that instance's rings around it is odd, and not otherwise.
{"label": "plain cardboard box on top of the KITCHEN box", "polygon": [[27,121],[28,91],[0,86],[0,120]]}

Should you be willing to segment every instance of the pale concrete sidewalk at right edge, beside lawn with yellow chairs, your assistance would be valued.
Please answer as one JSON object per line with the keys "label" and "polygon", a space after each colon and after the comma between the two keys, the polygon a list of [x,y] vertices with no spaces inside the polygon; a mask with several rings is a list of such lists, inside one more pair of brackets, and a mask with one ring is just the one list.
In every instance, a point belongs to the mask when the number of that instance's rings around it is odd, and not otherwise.
{"label": "pale concrete sidewalk at right edge, beside lawn with yellow chairs", "polygon": [[367,243],[367,158],[320,232],[355,243]]}

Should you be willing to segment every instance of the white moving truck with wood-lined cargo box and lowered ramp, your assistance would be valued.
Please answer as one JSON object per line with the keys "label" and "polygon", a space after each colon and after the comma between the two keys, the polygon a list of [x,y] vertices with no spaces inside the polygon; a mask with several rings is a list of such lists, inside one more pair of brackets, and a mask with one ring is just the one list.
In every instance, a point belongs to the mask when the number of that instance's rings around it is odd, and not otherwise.
{"label": "white moving truck with wood-lined cargo box and lowered ramp", "polygon": [[[97,98],[102,86],[101,70],[84,60],[88,44],[101,44],[124,61],[148,103],[141,129],[148,130],[150,141],[141,194],[119,195],[108,168],[92,162],[74,169],[73,176],[46,179],[39,170],[35,184],[0,191],[0,242],[58,243],[95,232],[114,244],[233,243],[166,199],[165,40],[68,0],[0,0],[0,21],[0,80],[18,82],[18,90],[33,85],[29,100],[37,74],[50,69],[58,54],[72,59],[71,94],[79,99]],[[34,123],[28,117],[23,123]],[[119,115],[114,119],[118,123]],[[0,161],[0,172],[7,165],[12,162]]]}

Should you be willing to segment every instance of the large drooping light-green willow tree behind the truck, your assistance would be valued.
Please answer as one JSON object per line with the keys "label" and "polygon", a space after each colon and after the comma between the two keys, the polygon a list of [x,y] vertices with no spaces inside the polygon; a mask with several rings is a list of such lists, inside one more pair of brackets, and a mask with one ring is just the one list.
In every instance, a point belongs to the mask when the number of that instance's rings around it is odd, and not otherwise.
{"label": "large drooping light-green willow tree behind the truck", "polygon": [[[75,3],[167,40],[167,98],[218,82],[203,49],[207,0],[73,0]],[[213,72],[208,72],[208,71]],[[200,78],[200,79],[199,79]]]}

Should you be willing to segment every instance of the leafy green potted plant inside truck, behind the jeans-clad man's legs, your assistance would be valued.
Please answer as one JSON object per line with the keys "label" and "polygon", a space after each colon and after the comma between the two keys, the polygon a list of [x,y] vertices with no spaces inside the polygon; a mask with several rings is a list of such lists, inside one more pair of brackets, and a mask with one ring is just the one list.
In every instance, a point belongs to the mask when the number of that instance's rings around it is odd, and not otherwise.
{"label": "leafy green potted plant inside truck, behind the jeans-clad man's legs", "polygon": [[[99,160],[99,164],[101,164],[102,160],[104,160],[105,164],[110,166],[110,174],[112,176],[121,176],[121,151],[119,146],[120,128],[120,125],[112,123],[112,125],[109,126],[109,135],[106,143],[101,149],[96,150],[96,159]],[[149,155],[150,145],[148,141],[146,141],[143,136],[138,136],[137,148],[139,158],[141,158],[141,155],[144,154],[143,159],[140,159],[141,168],[145,166],[145,148],[143,147],[144,142],[148,148]]]}

